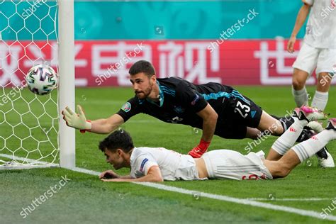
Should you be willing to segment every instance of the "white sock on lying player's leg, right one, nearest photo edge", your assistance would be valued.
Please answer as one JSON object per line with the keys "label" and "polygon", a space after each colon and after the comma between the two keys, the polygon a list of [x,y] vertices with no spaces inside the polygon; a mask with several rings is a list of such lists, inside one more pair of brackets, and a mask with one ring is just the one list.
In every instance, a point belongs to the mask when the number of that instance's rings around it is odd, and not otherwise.
{"label": "white sock on lying player's leg, right one, nearest photo edge", "polygon": [[335,130],[323,130],[323,132],[318,133],[318,135],[293,146],[291,149],[296,153],[296,155],[298,155],[300,161],[303,162],[325,147],[327,142],[335,139]]}

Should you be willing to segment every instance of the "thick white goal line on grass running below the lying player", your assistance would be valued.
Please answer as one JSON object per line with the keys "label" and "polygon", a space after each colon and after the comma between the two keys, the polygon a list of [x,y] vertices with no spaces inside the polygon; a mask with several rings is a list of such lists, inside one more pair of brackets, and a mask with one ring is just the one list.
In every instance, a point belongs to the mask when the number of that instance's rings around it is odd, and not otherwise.
{"label": "thick white goal line on grass running below the lying player", "polygon": [[[15,157],[15,158],[17,160],[19,160],[19,158],[21,159],[21,157]],[[26,158],[23,158],[23,159],[26,159]],[[30,160],[34,161],[33,159],[30,159]],[[26,159],[26,161],[27,161],[27,159]],[[77,167],[73,168],[73,169],[70,169],[70,170],[75,171],[75,172],[82,172],[84,174],[91,174],[91,175],[94,175],[94,176],[98,176],[100,174],[99,172],[95,172],[93,170],[77,168]],[[228,201],[228,202],[239,203],[239,204],[247,205],[247,206],[267,208],[267,209],[271,209],[271,210],[274,210],[274,211],[285,211],[285,212],[288,212],[288,213],[294,213],[294,214],[298,214],[298,215],[303,215],[303,216],[308,216],[308,217],[313,217],[313,218],[318,218],[318,219],[323,219],[323,220],[336,221],[336,216],[335,215],[327,215],[327,217],[323,218],[320,215],[320,213],[318,213],[316,211],[303,210],[303,209],[292,208],[292,207],[288,207],[288,206],[278,206],[278,205],[274,205],[274,204],[271,204],[271,203],[252,201],[251,199],[233,198],[233,197],[230,197],[230,196],[223,196],[223,195],[218,195],[218,194],[208,194],[208,193],[204,193],[204,192],[200,192],[200,191],[191,191],[191,190],[187,190],[187,189],[181,189],[181,188],[175,187],[175,186],[167,186],[167,185],[164,185],[164,184],[156,184],[156,183],[150,183],[150,182],[132,182],[132,183],[133,184],[139,184],[139,185],[142,185],[142,186],[149,186],[149,187],[164,190],[164,191],[177,192],[177,193],[180,193],[180,194],[197,195],[197,196],[200,196],[200,197],[212,198],[212,199],[216,199],[216,200],[220,200],[220,201]]]}

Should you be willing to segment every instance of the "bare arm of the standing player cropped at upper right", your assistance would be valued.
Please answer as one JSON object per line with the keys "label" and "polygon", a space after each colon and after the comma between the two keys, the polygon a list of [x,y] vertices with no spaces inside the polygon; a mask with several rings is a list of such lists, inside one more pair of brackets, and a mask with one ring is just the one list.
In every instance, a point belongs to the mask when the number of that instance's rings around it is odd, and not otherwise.
{"label": "bare arm of the standing player cropped at upper right", "polygon": [[303,0],[303,6],[301,7],[300,11],[298,11],[298,16],[296,17],[295,26],[291,33],[291,38],[289,39],[289,43],[287,44],[287,50],[291,53],[294,52],[294,44],[296,42],[296,35],[298,35],[298,31],[301,30],[303,23],[305,23],[308,13],[310,11],[310,7],[311,5],[309,5],[308,3],[306,3],[306,1]]}

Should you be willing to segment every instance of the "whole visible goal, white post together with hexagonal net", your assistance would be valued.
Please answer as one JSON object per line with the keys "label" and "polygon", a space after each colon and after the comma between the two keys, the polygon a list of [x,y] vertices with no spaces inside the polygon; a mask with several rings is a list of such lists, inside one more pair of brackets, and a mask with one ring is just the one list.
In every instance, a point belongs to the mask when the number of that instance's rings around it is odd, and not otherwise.
{"label": "whole visible goal, white post together with hexagonal net", "polygon": [[[24,77],[43,63],[58,88],[37,96]],[[74,89],[74,0],[0,1],[0,169],[76,167],[75,130],[61,114]]]}

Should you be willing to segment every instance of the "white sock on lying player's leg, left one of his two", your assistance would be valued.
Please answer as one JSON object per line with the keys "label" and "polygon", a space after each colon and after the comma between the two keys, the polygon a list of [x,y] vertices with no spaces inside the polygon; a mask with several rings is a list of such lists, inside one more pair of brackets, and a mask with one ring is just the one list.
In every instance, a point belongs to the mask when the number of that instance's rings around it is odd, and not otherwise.
{"label": "white sock on lying player's leg, left one of his two", "polygon": [[294,118],[294,123],[273,143],[271,148],[280,155],[285,155],[285,153],[294,145],[298,136],[301,135],[303,127],[307,124],[308,121],[306,120],[298,120],[298,118]]}

